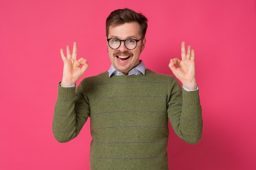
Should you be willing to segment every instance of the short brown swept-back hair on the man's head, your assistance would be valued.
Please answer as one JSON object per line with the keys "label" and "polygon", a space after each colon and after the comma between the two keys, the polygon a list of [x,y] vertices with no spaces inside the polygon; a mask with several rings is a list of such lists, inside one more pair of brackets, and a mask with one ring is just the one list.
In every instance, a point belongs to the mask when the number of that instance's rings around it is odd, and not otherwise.
{"label": "short brown swept-back hair on the man's head", "polygon": [[129,22],[138,22],[140,27],[140,34],[142,38],[145,37],[148,28],[148,19],[142,14],[137,13],[131,9],[117,9],[112,11],[106,20],[106,36],[108,37],[108,29],[112,25],[124,24]]}

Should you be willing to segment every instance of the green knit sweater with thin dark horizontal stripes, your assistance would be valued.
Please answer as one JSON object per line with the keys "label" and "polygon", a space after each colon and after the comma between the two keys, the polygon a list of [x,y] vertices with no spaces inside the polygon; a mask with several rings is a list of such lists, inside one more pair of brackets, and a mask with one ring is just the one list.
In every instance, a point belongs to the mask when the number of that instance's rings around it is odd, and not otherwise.
{"label": "green knit sweater with thin dark horizontal stripes", "polygon": [[90,117],[91,170],[168,170],[168,120],[190,144],[202,136],[198,90],[186,92],[173,76],[146,69],[145,75],[83,79],[58,87],[53,134],[59,142],[76,137]]}

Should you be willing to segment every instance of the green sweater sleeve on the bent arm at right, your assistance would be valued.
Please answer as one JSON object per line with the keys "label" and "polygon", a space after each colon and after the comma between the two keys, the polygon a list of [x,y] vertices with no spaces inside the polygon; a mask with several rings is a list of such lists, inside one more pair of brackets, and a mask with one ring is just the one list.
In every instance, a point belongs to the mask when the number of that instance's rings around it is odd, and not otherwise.
{"label": "green sweater sleeve on the bent arm at right", "polygon": [[[175,78],[173,78],[175,79]],[[185,142],[196,144],[202,137],[202,108],[199,90],[187,92],[171,80],[168,118],[175,133]]]}

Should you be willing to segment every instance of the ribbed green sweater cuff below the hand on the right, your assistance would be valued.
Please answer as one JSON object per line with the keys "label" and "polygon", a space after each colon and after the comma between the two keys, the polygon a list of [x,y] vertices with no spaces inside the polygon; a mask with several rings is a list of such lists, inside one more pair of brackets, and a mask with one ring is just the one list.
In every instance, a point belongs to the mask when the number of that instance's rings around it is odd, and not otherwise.
{"label": "ribbed green sweater cuff below the hand on the right", "polygon": [[182,99],[187,105],[196,105],[200,103],[199,90],[188,92],[182,88]]}

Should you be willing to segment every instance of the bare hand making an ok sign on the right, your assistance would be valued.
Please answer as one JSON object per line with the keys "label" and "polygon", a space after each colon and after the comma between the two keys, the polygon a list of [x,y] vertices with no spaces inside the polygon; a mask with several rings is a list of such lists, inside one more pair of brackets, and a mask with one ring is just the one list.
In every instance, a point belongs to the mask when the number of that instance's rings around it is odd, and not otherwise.
{"label": "bare hand making an ok sign on the right", "polygon": [[[185,42],[182,42],[181,44],[181,57],[181,61],[177,58],[171,59],[169,68],[184,87],[194,90],[197,88],[195,81],[195,52],[194,50],[191,50],[191,46],[188,46],[186,53]],[[178,66],[177,68],[175,67],[175,64]]]}

